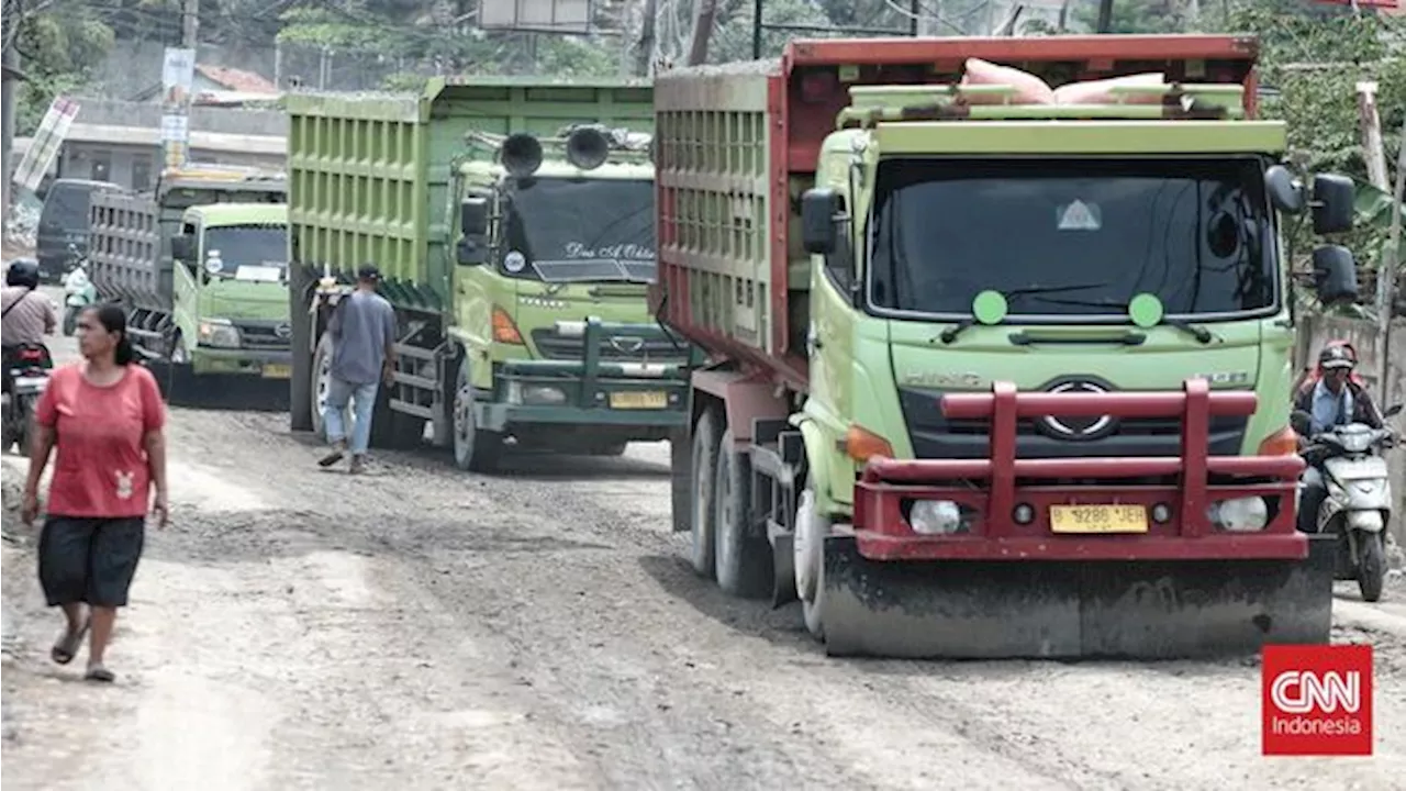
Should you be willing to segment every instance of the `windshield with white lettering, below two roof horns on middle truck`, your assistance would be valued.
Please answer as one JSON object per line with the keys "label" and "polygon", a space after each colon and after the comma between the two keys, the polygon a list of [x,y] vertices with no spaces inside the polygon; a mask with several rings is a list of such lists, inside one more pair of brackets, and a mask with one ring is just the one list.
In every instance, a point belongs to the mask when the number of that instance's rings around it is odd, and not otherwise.
{"label": "windshield with white lettering, below two roof horns on middle truck", "polygon": [[[654,182],[527,179],[509,207],[505,273],[551,283],[654,280]],[[524,265],[508,266],[513,252]]]}

